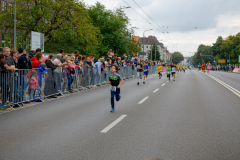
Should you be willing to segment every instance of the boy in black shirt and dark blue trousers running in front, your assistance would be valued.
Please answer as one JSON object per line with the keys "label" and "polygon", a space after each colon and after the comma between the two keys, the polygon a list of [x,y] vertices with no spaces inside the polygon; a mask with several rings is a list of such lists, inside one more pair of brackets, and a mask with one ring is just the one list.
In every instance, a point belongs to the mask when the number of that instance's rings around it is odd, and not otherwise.
{"label": "boy in black shirt and dark blue trousers running in front", "polygon": [[111,84],[110,86],[110,92],[111,92],[111,111],[115,111],[114,106],[114,96],[116,95],[116,101],[119,101],[121,99],[120,96],[120,87],[123,84],[122,77],[117,74],[117,71],[119,70],[119,67],[116,64],[112,65],[112,74],[109,76],[108,84]]}

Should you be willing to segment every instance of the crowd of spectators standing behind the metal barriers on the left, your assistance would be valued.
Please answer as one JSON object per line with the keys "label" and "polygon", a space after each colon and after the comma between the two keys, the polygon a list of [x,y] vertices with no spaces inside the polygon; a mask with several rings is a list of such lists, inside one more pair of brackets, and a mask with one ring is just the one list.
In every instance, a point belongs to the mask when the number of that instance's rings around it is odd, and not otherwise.
{"label": "crowd of spectators standing behind the metal barriers on the left", "polygon": [[[158,64],[157,61],[141,61],[148,66]],[[50,54],[46,59],[40,48],[27,53],[22,47],[17,51],[5,47],[2,53],[0,51],[0,107],[41,102],[42,97],[57,98],[106,84],[113,64],[120,67],[119,73],[123,78],[129,78],[136,75],[137,63],[137,57],[126,54],[118,57],[111,49],[106,58],[95,59],[91,55],[81,55],[78,50],[72,54],[60,50],[59,54]]]}

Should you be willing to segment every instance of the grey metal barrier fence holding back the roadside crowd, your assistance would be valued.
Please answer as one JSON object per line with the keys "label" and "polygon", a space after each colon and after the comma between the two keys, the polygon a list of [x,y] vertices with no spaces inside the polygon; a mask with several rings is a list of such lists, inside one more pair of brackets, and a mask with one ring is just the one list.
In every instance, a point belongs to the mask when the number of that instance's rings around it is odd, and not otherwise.
{"label": "grey metal barrier fence holding back the roadside crowd", "polygon": [[[149,73],[153,72],[157,72],[157,66],[149,66]],[[135,66],[119,67],[118,73],[123,79],[137,76]],[[0,72],[0,103],[13,110],[15,105],[23,108],[26,102],[42,102],[52,96],[104,85],[110,74],[112,74],[110,67],[103,68],[101,73],[93,67]]]}

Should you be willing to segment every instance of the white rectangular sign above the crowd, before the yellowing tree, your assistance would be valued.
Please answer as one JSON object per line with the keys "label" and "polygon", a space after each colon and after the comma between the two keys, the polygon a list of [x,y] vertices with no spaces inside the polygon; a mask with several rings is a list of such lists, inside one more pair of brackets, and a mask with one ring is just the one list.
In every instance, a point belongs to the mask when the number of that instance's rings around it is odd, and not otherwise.
{"label": "white rectangular sign above the crowd, before the yellowing tree", "polygon": [[31,50],[41,48],[44,52],[44,34],[31,31]]}

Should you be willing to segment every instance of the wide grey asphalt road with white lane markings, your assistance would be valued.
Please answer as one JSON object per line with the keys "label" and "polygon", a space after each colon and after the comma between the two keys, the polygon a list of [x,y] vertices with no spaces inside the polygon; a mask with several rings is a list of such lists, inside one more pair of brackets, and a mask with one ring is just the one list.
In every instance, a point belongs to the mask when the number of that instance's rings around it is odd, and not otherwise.
{"label": "wide grey asphalt road with white lane markings", "polygon": [[114,113],[106,86],[0,115],[0,160],[240,159],[240,97],[197,70],[163,75],[126,80]]}

